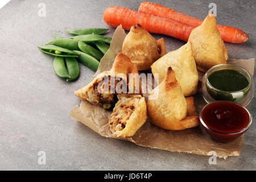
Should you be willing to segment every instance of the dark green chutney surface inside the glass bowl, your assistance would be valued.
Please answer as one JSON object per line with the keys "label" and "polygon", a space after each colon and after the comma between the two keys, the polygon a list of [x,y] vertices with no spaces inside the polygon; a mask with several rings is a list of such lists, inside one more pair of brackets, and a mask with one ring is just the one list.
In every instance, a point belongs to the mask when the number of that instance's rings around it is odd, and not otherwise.
{"label": "dark green chutney surface inside the glass bowl", "polygon": [[236,92],[245,89],[249,84],[245,75],[233,69],[214,71],[209,75],[208,81],[214,88],[227,92]]}

